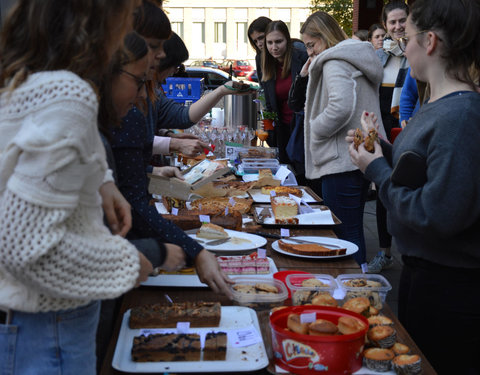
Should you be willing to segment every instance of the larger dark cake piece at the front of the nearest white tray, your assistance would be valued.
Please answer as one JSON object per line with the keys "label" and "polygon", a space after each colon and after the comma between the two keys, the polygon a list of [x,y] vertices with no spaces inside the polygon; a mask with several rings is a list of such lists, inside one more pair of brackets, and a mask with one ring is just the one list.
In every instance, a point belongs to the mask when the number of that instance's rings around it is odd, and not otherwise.
{"label": "larger dark cake piece at the front of the nearest white tray", "polygon": [[132,360],[135,362],[199,361],[200,335],[157,333],[133,338]]}

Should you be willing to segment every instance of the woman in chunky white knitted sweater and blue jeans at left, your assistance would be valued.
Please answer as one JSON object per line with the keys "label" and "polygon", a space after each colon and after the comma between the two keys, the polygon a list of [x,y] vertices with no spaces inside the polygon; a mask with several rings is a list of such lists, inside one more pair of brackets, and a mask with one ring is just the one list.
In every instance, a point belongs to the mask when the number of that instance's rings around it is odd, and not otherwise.
{"label": "woman in chunky white knitted sweater and blue jeans at left", "polygon": [[[101,299],[152,266],[112,231],[118,206],[96,87],[131,28],[130,0],[19,0],[0,38],[0,363],[15,374],[95,374]],[[102,197],[100,196],[102,194]]]}

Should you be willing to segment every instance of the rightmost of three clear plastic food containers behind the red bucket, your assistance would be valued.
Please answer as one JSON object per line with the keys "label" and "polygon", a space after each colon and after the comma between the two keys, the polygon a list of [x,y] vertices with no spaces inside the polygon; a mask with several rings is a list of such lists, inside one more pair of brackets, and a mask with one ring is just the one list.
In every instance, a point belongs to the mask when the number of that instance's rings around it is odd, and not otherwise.
{"label": "rightmost of three clear plastic food containers behind the red bucket", "polygon": [[345,292],[344,302],[355,297],[366,297],[376,309],[382,309],[392,286],[382,275],[343,274],[337,276],[338,286]]}

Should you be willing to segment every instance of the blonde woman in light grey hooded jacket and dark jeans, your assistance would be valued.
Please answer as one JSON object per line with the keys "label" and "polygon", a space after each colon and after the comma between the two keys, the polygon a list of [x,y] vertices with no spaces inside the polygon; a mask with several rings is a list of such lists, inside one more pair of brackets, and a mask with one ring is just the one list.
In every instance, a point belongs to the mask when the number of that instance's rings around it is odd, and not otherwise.
{"label": "blonde woman in light grey hooded jacket and dark jeans", "polygon": [[[309,59],[305,103],[305,174],[310,186],[342,221],[339,238],[359,247],[355,260],[365,263],[363,208],[368,181],[348,155],[347,132],[363,110],[379,111],[382,67],[369,42],[348,39],[335,19],[315,12],[300,33]],[[301,74],[302,74],[301,73]],[[380,126],[380,134],[384,135]]]}

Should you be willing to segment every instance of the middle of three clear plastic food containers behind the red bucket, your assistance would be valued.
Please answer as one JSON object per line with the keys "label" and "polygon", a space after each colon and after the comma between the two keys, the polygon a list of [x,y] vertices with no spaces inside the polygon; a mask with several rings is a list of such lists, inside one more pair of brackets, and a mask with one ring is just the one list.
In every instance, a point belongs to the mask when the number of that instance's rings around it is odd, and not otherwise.
{"label": "middle of three clear plastic food containers behind the red bucket", "polygon": [[[324,286],[320,286],[318,282]],[[316,283],[319,285],[315,285]],[[333,293],[337,288],[335,279],[330,275],[324,274],[291,274],[287,276],[286,284],[291,291],[292,305],[294,306],[312,304],[315,297],[325,292],[328,292],[333,297]]]}

